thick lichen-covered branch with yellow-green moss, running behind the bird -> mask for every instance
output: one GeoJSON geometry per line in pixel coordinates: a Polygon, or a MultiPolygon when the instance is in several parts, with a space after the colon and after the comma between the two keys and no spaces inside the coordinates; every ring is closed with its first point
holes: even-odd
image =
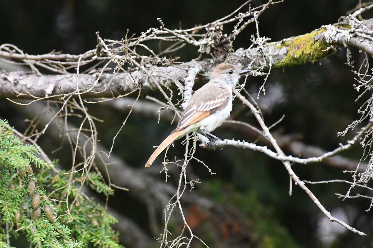
{"type": "MultiPolygon", "coordinates": [[[[340,46],[356,47],[373,55],[373,41],[370,36],[373,33],[373,31],[370,31],[372,27],[373,19],[360,22],[354,17],[348,16],[341,23],[327,25],[305,35],[283,39],[278,42],[269,42],[260,48],[253,46],[247,49],[237,49],[235,52],[231,52],[225,61],[238,64],[242,68],[250,67],[265,70],[271,64],[273,67],[287,67],[307,62],[317,62],[335,53],[340,46]]],[[[102,49],[98,51],[102,52],[102,49]]],[[[96,57],[96,59],[102,61],[98,58],[111,58],[122,65],[120,61],[125,59],[125,55],[115,55],[117,52],[111,51],[111,57],[96,57]]],[[[108,53],[109,51],[104,52],[104,54],[108,53]]],[[[27,55],[7,52],[7,49],[0,50],[0,58],[23,59],[29,63],[30,61],[47,63],[51,59],[60,59],[62,64],[63,61],[69,61],[70,64],[71,61],[76,61],[74,63],[77,64],[79,58],[93,61],[93,57],[90,57],[90,55],[94,54],[95,52],[90,51],[84,55],[27,55]]],[[[141,57],[141,55],[139,56],[141,57]]],[[[40,73],[2,71],[0,73],[0,98],[37,100],[53,97],[56,99],[69,94],[72,94],[72,96],[81,95],[84,98],[118,97],[130,93],[138,87],[141,87],[141,94],[147,94],[150,91],[158,90],[156,84],[161,87],[176,88],[176,82],[185,78],[186,71],[195,63],[201,66],[202,71],[208,72],[222,61],[222,59],[217,58],[166,66],[142,66],[138,64],[139,67],[131,70],[121,70],[122,72],[114,69],[114,73],[108,73],[107,70],[111,69],[106,67],[105,70],[93,69],[88,74],[79,75],[76,73],[42,75],[40,73]]],[[[82,63],[84,63],[83,60],[82,63]]],[[[198,77],[196,82],[203,80],[204,77],[198,77]]]]}

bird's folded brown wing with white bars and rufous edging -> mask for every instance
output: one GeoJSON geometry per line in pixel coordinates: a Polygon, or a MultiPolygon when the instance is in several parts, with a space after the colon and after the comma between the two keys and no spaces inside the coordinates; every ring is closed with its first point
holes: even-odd
{"type": "Polygon", "coordinates": [[[216,84],[205,84],[191,97],[175,131],[184,129],[223,109],[229,103],[229,97],[228,89],[216,86],[216,84]]]}

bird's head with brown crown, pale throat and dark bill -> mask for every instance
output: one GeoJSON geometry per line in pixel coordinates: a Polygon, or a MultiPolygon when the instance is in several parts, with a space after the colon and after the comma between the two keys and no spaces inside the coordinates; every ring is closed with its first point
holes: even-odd
{"type": "Polygon", "coordinates": [[[239,77],[241,77],[242,74],[248,73],[250,71],[251,70],[240,70],[234,65],[222,63],[217,65],[216,68],[213,70],[210,80],[224,80],[234,87],[237,85],[239,77]]]}

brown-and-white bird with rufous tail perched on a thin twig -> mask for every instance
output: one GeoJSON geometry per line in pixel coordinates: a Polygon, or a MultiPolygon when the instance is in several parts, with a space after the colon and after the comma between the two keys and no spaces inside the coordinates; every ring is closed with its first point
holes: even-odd
{"type": "MultiPolygon", "coordinates": [[[[210,142],[219,139],[210,132],[229,117],[232,111],[233,88],[242,74],[252,70],[240,70],[234,65],[222,63],[211,73],[210,81],[192,95],[175,130],[156,148],[145,164],[149,167],[158,155],[173,141],[191,132],[198,132],[210,142]]],[[[220,140],[220,139],[219,139],[220,140]]]]}

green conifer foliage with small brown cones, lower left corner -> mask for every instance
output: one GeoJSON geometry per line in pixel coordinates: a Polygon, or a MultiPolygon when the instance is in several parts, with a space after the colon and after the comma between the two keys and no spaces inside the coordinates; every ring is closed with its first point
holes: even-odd
{"type": "Polygon", "coordinates": [[[121,247],[115,218],[77,189],[76,174],[38,154],[0,120],[0,247],[121,247]]]}

